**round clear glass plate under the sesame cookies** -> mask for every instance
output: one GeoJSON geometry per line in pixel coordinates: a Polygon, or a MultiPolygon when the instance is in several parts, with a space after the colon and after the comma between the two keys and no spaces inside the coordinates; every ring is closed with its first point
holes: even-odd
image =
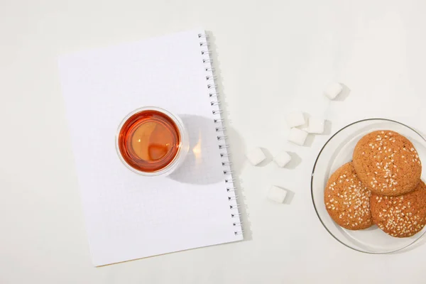
{"type": "MultiPolygon", "coordinates": [[[[311,193],[312,202],[318,218],[325,229],[345,246],[364,253],[392,253],[405,249],[425,234],[426,226],[419,233],[409,238],[394,238],[385,234],[377,226],[368,229],[351,231],[334,223],[324,205],[324,187],[330,175],[344,163],[352,160],[352,153],[359,139],[375,130],[393,130],[410,139],[422,161],[426,161],[426,141],[420,133],[405,124],[389,119],[365,119],[345,126],[325,143],[315,161],[312,170],[311,193]]],[[[422,177],[426,167],[422,168],[422,177]]]]}

